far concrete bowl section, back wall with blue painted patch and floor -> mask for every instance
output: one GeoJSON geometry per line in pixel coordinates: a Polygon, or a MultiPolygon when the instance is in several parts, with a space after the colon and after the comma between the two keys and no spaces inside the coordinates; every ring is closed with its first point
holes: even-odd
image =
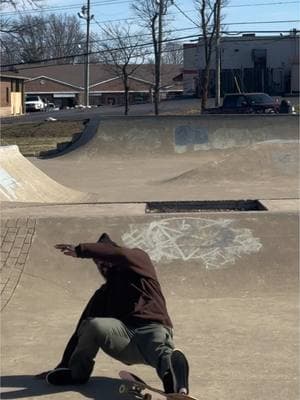
{"type": "Polygon", "coordinates": [[[68,154],[33,162],[108,202],[296,198],[298,124],[297,115],[104,117],[68,154]]]}

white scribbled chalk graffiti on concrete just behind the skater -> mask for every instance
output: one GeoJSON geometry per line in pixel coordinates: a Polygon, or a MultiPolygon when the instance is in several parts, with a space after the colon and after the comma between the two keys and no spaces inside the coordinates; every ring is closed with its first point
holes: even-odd
{"type": "Polygon", "coordinates": [[[122,240],[128,247],[145,250],[155,262],[198,260],[208,270],[220,269],[262,247],[250,229],[235,227],[235,223],[231,219],[167,218],[130,224],[122,240]]]}

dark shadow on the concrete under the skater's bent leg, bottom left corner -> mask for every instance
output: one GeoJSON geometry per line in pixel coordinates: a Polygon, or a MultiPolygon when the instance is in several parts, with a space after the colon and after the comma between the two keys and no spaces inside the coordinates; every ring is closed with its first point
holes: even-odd
{"type": "MultiPolygon", "coordinates": [[[[105,400],[131,400],[132,396],[118,393],[122,383],[119,379],[107,377],[93,377],[85,385],[78,386],[51,386],[45,381],[38,380],[34,375],[11,375],[1,377],[1,399],[29,399],[31,397],[59,395],[60,393],[73,392],[81,394],[83,398],[105,400]]],[[[74,396],[75,397],[75,396],[74,396]]],[[[57,398],[57,397],[56,397],[57,398]]],[[[78,398],[76,396],[76,398],[78,398]]]]}

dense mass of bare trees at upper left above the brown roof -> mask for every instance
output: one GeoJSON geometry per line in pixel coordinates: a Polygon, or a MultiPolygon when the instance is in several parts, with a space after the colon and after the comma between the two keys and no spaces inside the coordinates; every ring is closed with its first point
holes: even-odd
{"type": "Polygon", "coordinates": [[[26,15],[14,27],[13,32],[1,35],[2,65],[52,58],[60,58],[56,63],[72,63],[85,38],[78,19],[66,14],[26,15]]]}

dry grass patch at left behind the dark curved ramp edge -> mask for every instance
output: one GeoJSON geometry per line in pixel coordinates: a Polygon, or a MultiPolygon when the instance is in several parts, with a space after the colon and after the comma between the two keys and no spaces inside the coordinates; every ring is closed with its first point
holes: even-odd
{"type": "Polygon", "coordinates": [[[17,145],[25,156],[38,156],[75,141],[82,133],[86,120],[43,121],[1,126],[1,146],[17,145]]]}

